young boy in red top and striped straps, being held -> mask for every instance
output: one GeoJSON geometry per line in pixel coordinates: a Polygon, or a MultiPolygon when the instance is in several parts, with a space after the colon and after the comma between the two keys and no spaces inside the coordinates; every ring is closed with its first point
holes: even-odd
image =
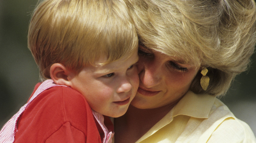
{"type": "Polygon", "coordinates": [[[43,0],[28,47],[45,81],[0,142],[111,142],[113,124],[103,115],[122,116],[139,86],[138,38],[124,2],[43,0]]]}

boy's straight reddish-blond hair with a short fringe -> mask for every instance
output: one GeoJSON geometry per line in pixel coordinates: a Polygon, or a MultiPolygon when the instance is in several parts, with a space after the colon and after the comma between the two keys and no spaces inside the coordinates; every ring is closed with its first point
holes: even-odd
{"type": "Polygon", "coordinates": [[[131,55],[138,36],[122,0],[43,0],[30,21],[28,47],[41,79],[50,79],[53,63],[79,71],[100,56],[110,63],[131,55]]]}

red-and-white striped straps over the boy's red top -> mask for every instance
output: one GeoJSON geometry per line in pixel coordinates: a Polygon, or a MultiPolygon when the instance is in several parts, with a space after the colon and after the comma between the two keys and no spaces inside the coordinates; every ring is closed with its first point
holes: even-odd
{"type": "MultiPolygon", "coordinates": [[[[47,90],[51,87],[55,86],[63,86],[63,85],[57,85],[53,83],[53,80],[49,79],[44,81],[35,91],[35,93],[32,95],[31,99],[26,103],[24,106],[20,108],[20,110],[12,116],[12,118],[3,126],[3,128],[0,131],[0,143],[13,143],[14,137],[17,132],[17,121],[20,118],[21,114],[25,111],[25,109],[29,106],[29,104],[44,90],[47,90]]],[[[93,115],[96,118],[97,122],[101,126],[102,130],[104,131],[104,138],[103,143],[111,143],[112,137],[114,136],[114,133],[106,128],[104,125],[104,117],[102,114],[97,113],[96,111],[93,111],[93,115]]]]}

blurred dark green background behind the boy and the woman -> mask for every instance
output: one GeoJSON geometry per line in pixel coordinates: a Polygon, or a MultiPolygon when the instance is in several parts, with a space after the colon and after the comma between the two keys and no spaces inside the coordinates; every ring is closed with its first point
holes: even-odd
{"type": "MultiPolygon", "coordinates": [[[[39,82],[27,48],[28,24],[37,0],[0,0],[0,129],[23,106],[39,82]]],[[[256,54],[221,100],[256,135],[256,54]]]]}

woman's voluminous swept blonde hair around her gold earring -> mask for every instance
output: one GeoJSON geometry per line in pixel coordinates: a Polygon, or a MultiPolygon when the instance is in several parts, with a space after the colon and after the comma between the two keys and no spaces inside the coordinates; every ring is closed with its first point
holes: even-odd
{"type": "Polygon", "coordinates": [[[198,72],[190,89],[224,95],[245,71],[255,45],[254,0],[126,0],[139,40],[148,48],[208,67],[210,84],[198,72]]]}

